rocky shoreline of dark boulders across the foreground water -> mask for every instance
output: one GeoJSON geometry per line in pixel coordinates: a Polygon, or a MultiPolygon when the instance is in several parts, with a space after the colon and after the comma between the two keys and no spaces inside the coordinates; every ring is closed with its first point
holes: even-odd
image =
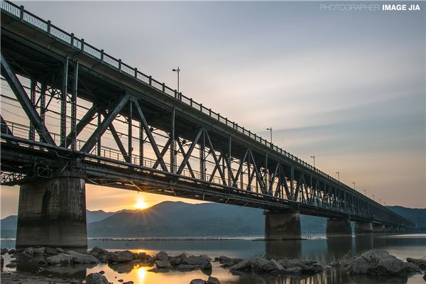
{"type": "MultiPolygon", "coordinates": [[[[353,275],[376,275],[376,276],[407,276],[413,273],[422,273],[426,269],[425,259],[407,258],[402,261],[387,251],[371,250],[360,256],[346,258],[328,266],[322,266],[317,261],[300,259],[273,259],[256,258],[254,261],[242,258],[229,258],[219,256],[192,256],[180,253],[178,256],[169,256],[165,251],[160,251],[154,256],[147,253],[133,253],[131,251],[107,251],[95,246],[87,253],[76,251],[64,251],[60,248],[27,248],[22,250],[1,249],[1,281],[2,283],[86,283],[86,284],[109,284],[103,271],[90,273],[84,281],[81,279],[54,278],[53,275],[38,275],[40,272],[49,272],[52,268],[60,270],[70,266],[91,266],[98,263],[108,265],[119,273],[130,272],[133,266],[140,264],[151,266],[148,271],[153,273],[167,273],[169,271],[195,271],[200,270],[206,275],[212,274],[212,262],[219,262],[222,268],[231,273],[249,272],[269,275],[315,275],[332,268],[341,269],[347,274],[353,275]],[[3,271],[3,255],[8,253],[12,261],[6,265],[7,268],[15,268],[18,263],[33,263],[37,269],[34,273],[13,273],[3,271]]],[[[425,275],[426,277],[426,275],[425,275]]],[[[426,279],[425,279],[426,280],[426,279]]],[[[133,284],[133,281],[119,280],[124,284],[133,284]]],[[[194,279],[190,284],[219,284],[220,280],[209,276],[207,280],[194,279]]]]}

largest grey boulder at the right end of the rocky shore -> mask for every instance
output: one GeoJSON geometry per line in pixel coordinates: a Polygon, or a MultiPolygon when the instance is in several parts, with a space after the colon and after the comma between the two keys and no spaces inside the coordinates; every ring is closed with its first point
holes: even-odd
{"type": "Polygon", "coordinates": [[[384,250],[366,251],[349,261],[346,273],[370,275],[408,275],[420,272],[413,263],[405,263],[384,250]]]}

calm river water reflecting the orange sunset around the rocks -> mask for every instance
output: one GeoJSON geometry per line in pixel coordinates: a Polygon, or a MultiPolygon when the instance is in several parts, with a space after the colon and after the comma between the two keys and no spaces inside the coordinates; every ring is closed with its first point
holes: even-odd
{"type": "MultiPolygon", "coordinates": [[[[1,240],[1,247],[13,248],[13,240],[1,240]]],[[[251,258],[271,256],[273,258],[302,258],[315,260],[326,266],[332,261],[339,261],[346,255],[359,254],[369,249],[386,249],[394,256],[405,260],[407,257],[422,258],[426,256],[426,234],[371,236],[362,238],[337,239],[307,239],[302,241],[257,241],[253,239],[227,240],[173,240],[173,241],[132,241],[89,240],[89,249],[99,246],[109,251],[129,249],[134,252],[158,253],[165,250],[170,256],[186,252],[189,254],[206,254],[212,258],[229,256],[235,258],[251,258]]],[[[6,256],[6,263],[10,261],[6,256]]],[[[337,283],[425,283],[422,275],[413,275],[410,278],[371,278],[362,276],[348,276],[337,270],[328,270],[313,276],[272,276],[255,275],[253,273],[229,273],[221,268],[219,263],[212,263],[212,276],[219,278],[221,283],[244,284],[283,284],[283,283],[310,283],[310,284],[337,284],[337,283]]],[[[38,266],[18,266],[18,271],[35,270],[38,266]]],[[[153,273],[148,270],[152,267],[133,266],[133,264],[97,266],[74,266],[73,268],[51,268],[47,274],[61,275],[62,277],[84,278],[92,272],[105,271],[108,280],[118,283],[133,280],[138,284],[175,283],[187,284],[194,278],[207,279],[201,271],[169,273],[153,273]]],[[[9,269],[9,268],[6,268],[9,269]]],[[[13,270],[13,269],[9,269],[13,270]]]]}

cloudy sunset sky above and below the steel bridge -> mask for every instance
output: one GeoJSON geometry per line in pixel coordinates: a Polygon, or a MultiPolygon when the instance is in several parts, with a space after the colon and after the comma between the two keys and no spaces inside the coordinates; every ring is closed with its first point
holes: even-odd
{"type": "MultiPolygon", "coordinates": [[[[426,207],[421,11],[321,1],[18,1],[26,9],[336,175],[382,204],[426,207]]],[[[372,3],[372,2],[368,2],[372,3]]],[[[379,3],[381,2],[373,2],[379,3]]],[[[172,197],[87,185],[87,208],[172,197]]],[[[18,188],[1,188],[1,217],[18,188]]],[[[195,202],[185,200],[186,202],[195,202]]]]}

